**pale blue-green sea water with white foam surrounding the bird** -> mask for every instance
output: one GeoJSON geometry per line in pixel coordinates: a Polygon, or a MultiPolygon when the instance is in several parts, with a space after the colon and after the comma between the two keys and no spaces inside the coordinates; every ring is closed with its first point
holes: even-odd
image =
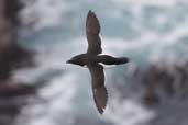
{"type": "Polygon", "coordinates": [[[123,77],[134,66],[144,68],[163,59],[187,60],[186,0],[35,0],[25,4],[20,44],[37,53],[37,67],[19,70],[15,77],[33,81],[52,71],[62,73],[38,91],[47,102],[24,107],[19,125],[24,123],[23,116],[29,117],[27,125],[187,125],[186,106],[177,103],[158,111],[147,109],[139,101],[142,87],[135,92],[123,77]],[[89,10],[100,21],[103,54],[130,58],[126,65],[106,68],[109,103],[103,115],[92,100],[89,71],[66,64],[87,50],[85,22],[89,10]],[[126,98],[122,99],[114,86],[126,88],[126,98]],[[177,117],[183,121],[175,121],[177,117]]]}

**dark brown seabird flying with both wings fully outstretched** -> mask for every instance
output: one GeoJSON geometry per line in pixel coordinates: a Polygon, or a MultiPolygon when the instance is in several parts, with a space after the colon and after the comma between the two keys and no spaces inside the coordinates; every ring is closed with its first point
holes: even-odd
{"type": "Polygon", "coordinates": [[[126,57],[112,57],[109,55],[101,55],[101,39],[99,36],[100,24],[96,14],[92,11],[89,11],[86,19],[86,35],[88,41],[88,49],[85,54],[79,54],[73,57],[70,60],[67,60],[68,64],[74,64],[78,66],[86,66],[91,75],[92,82],[92,94],[93,101],[96,103],[97,110],[100,114],[103,113],[108,94],[104,87],[104,65],[122,65],[129,61],[126,57]]]}

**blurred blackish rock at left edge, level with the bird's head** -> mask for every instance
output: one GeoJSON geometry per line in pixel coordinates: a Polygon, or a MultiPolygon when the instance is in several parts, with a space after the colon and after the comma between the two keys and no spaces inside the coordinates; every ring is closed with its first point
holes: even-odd
{"type": "MultiPolygon", "coordinates": [[[[11,76],[11,71],[26,66],[33,66],[33,54],[13,44],[0,53],[0,80],[5,80],[11,76]]],[[[0,82],[1,83],[1,82],[0,82]]]]}

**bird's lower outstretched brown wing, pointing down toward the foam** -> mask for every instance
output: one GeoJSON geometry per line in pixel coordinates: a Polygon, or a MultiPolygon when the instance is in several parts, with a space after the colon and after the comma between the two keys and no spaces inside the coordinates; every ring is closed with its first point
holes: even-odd
{"type": "Polygon", "coordinates": [[[102,114],[108,100],[107,89],[104,87],[103,67],[96,64],[88,66],[88,68],[91,73],[93,100],[99,113],[102,114]]]}

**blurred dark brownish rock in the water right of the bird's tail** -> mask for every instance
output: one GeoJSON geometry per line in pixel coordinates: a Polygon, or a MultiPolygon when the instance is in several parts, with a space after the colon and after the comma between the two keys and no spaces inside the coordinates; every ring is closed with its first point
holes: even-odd
{"type": "Polygon", "coordinates": [[[162,98],[185,99],[188,94],[188,63],[179,64],[153,64],[148,65],[145,70],[139,70],[134,77],[137,82],[143,83],[145,94],[143,100],[145,104],[159,103],[162,98]]]}

